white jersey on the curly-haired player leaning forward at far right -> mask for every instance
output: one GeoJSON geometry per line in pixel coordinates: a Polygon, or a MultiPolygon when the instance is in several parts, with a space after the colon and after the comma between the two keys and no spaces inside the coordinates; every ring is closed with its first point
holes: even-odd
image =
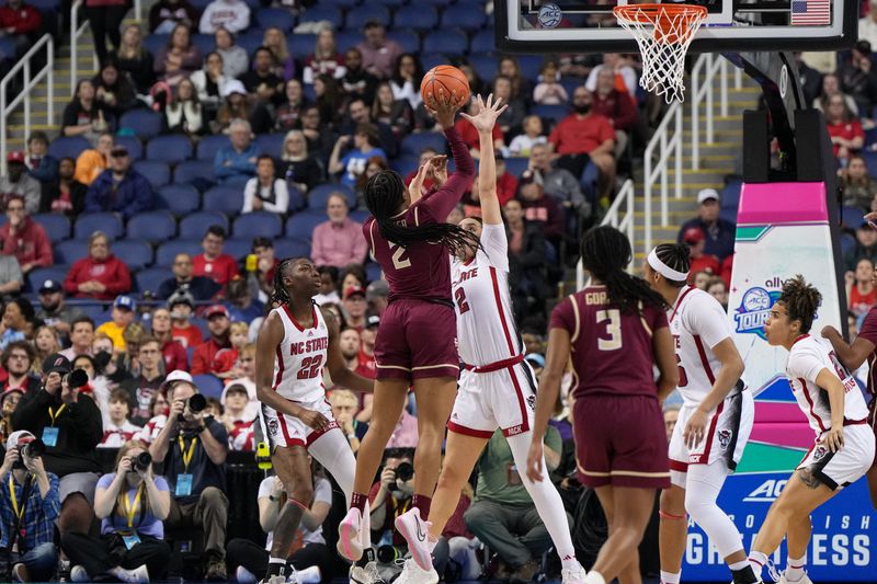
{"type": "Polygon", "coordinates": [[[809,334],[801,335],[791,345],[786,363],[786,375],[791,383],[791,391],[795,393],[798,406],[807,416],[817,437],[831,428],[829,394],[816,383],[816,378],[822,369],[828,369],[836,375],[843,383],[844,423],[861,422],[868,417],[868,408],[865,405],[865,398],[862,396],[856,380],[841,365],[831,345],[809,334]]]}

